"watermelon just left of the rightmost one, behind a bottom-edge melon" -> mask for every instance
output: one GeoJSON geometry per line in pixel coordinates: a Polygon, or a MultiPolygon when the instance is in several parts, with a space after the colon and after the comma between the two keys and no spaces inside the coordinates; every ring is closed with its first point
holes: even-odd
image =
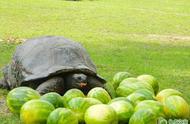
{"type": "Polygon", "coordinates": [[[144,100],[136,105],[135,112],[142,109],[151,109],[156,115],[164,117],[164,107],[158,101],[144,100]]]}

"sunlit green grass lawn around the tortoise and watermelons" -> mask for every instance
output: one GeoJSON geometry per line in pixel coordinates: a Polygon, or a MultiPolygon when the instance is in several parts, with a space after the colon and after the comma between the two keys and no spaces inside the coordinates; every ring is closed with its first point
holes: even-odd
{"type": "MultiPolygon", "coordinates": [[[[118,71],[154,75],[190,103],[189,0],[1,0],[0,68],[17,43],[42,35],[81,42],[108,82],[118,71]]],[[[0,73],[0,77],[2,73],[0,73]]],[[[18,124],[0,90],[1,124],[18,124]]]]}

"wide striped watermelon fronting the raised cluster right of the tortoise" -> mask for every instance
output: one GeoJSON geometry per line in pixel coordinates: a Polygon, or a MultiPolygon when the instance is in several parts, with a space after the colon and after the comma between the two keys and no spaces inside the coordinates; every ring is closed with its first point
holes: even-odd
{"type": "Polygon", "coordinates": [[[139,89],[148,89],[151,92],[154,92],[152,86],[144,82],[135,82],[135,83],[121,83],[116,90],[117,96],[127,97],[129,94],[135,92],[139,89]]]}

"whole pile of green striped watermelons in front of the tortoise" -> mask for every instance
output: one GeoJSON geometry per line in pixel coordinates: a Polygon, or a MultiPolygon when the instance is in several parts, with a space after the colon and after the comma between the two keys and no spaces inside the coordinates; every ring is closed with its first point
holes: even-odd
{"type": "Polygon", "coordinates": [[[23,124],[157,124],[164,119],[189,119],[190,107],[175,89],[159,92],[152,75],[134,77],[118,72],[111,83],[115,98],[101,87],[84,95],[70,89],[63,96],[40,94],[29,87],[18,87],[7,95],[7,106],[20,114],[23,124]]]}

